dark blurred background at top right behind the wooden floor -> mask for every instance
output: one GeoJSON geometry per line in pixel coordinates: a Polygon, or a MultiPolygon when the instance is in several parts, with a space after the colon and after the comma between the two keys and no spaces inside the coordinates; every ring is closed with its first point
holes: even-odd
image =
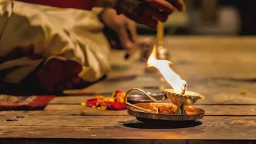
{"type": "MultiPolygon", "coordinates": [[[[185,0],[187,12],[175,11],[165,23],[166,35],[255,35],[256,0],[185,0]]],[[[137,25],[139,35],[155,29],[137,25]]]]}

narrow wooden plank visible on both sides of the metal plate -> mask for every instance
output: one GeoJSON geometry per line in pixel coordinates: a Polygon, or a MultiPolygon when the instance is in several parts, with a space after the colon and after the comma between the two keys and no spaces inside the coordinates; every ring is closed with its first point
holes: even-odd
{"type": "MultiPolygon", "coordinates": [[[[195,105],[205,115],[256,116],[255,105],[195,105]]],[[[0,115],[128,115],[127,110],[103,111],[81,105],[48,105],[44,111],[0,111],[0,115]]]]}

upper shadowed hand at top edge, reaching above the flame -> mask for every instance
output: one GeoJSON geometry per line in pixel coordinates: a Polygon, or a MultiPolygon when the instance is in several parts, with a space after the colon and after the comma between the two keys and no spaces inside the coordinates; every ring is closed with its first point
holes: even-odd
{"type": "Polygon", "coordinates": [[[166,21],[174,9],[185,11],[183,0],[96,0],[95,7],[111,7],[133,21],[156,27],[157,21],[166,21]]]}

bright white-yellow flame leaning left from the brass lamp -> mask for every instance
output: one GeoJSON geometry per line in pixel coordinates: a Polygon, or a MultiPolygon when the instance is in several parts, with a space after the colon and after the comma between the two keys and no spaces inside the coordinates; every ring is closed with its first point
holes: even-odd
{"type": "Polygon", "coordinates": [[[157,47],[154,45],[151,54],[149,55],[149,59],[147,60],[147,67],[155,67],[159,69],[167,83],[173,87],[175,93],[184,94],[186,91],[186,81],[181,79],[179,75],[177,75],[170,67],[172,64],[171,61],[167,60],[159,60],[156,58],[157,55],[157,47]]]}

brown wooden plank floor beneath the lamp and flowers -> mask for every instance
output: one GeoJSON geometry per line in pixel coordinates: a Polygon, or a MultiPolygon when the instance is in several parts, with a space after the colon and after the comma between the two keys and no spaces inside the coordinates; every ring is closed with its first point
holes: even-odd
{"type": "Polygon", "coordinates": [[[205,95],[195,105],[206,111],[202,123],[148,125],[125,110],[81,106],[116,89],[169,87],[159,73],[145,73],[138,57],[123,61],[123,52],[114,51],[109,78],[80,95],[66,91],[69,95],[56,97],[44,111],[1,111],[0,143],[255,143],[256,37],[168,37],[167,45],[173,69],[188,89],[205,95]],[[6,121],[17,115],[24,118],[6,121]]]}

